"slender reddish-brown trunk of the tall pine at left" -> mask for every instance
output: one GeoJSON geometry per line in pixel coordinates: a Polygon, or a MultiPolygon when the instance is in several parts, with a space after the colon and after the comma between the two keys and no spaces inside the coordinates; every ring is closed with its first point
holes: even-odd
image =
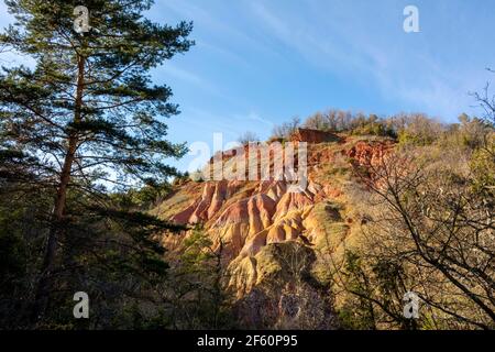
{"type": "MultiPolygon", "coordinates": [[[[77,125],[81,121],[82,94],[85,88],[85,65],[86,58],[78,54],[77,56],[78,76],[77,88],[75,97],[74,123],[77,125]]],[[[51,300],[51,292],[53,289],[53,279],[56,274],[56,254],[58,242],[63,237],[65,224],[65,208],[67,200],[67,189],[70,183],[72,168],[78,147],[77,131],[73,131],[67,136],[67,152],[64,160],[64,165],[61,170],[59,183],[57,187],[57,195],[52,213],[51,228],[48,233],[48,241],[43,260],[41,277],[36,287],[36,296],[33,309],[32,320],[34,323],[43,321],[46,309],[51,300]]]]}

